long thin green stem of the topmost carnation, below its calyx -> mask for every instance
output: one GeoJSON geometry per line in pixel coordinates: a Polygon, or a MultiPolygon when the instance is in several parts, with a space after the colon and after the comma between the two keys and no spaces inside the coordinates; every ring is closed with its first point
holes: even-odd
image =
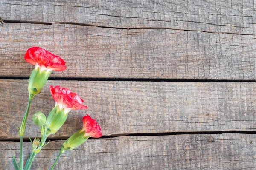
{"type": "Polygon", "coordinates": [[[33,95],[29,95],[29,103],[25,112],[25,115],[23,117],[23,121],[21,123],[19,133],[20,133],[20,170],[23,170],[23,136],[25,135],[25,129],[26,129],[26,121],[28,119],[29,115],[29,108],[33,99],[33,95]]]}

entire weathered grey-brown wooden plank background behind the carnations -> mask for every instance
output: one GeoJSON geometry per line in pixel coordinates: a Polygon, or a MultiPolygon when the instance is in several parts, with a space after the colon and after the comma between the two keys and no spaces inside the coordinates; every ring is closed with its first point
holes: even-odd
{"type": "Polygon", "coordinates": [[[67,122],[36,156],[49,170],[90,114],[100,139],[65,152],[56,170],[255,170],[255,0],[1,0],[0,170],[19,162],[17,127],[39,46],[61,56],[32,113],[54,107],[49,85],[78,93],[89,109],[67,122]],[[52,160],[53,159],[53,160],[52,160]]]}

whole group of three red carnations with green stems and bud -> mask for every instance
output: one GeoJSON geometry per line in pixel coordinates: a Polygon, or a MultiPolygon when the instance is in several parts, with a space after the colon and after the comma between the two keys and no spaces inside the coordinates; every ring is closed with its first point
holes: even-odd
{"type": "MultiPolygon", "coordinates": [[[[25,54],[26,62],[35,65],[35,69],[32,71],[29,78],[29,102],[24,115],[23,121],[19,128],[20,134],[20,166],[17,164],[15,156],[13,157],[13,165],[15,170],[23,170],[23,137],[26,130],[26,122],[29,114],[29,108],[32,99],[41,92],[44,87],[49,74],[51,71],[64,71],[66,66],[61,57],[56,56],[49,51],[46,51],[39,47],[29,48],[25,54]]],[[[87,106],[82,105],[84,102],[81,97],[76,93],[72,93],[67,88],[61,88],[60,86],[50,86],[50,91],[52,98],[55,100],[56,105],[50,111],[49,115],[46,117],[44,113],[37,112],[33,116],[33,122],[35,125],[40,127],[41,139],[35,138],[32,143],[32,153],[26,161],[24,170],[29,170],[37,153],[41,151],[49,142],[45,143],[47,137],[55,134],[64,122],[67,120],[68,113],[71,110],[87,109],[87,106]]],[[[102,136],[102,130],[97,124],[96,120],[91,119],[89,115],[83,117],[83,127],[81,130],[74,133],[70,138],[68,138],[62,145],[60,153],[52,165],[51,170],[55,167],[61,154],[66,150],[72,150],[81,144],[83,144],[89,137],[99,138],[102,136]]]]}

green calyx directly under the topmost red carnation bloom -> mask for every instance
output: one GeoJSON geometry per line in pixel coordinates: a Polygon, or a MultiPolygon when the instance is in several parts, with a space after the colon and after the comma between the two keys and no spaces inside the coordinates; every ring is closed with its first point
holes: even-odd
{"type": "Polygon", "coordinates": [[[51,71],[47,72],[47,70],[40,71],[39,67],[36,67],[29,78],[29,94],[37,95],[41,92],[42,88],[44,87],[45,83],[48,80],[49,74],[51,71]]]}

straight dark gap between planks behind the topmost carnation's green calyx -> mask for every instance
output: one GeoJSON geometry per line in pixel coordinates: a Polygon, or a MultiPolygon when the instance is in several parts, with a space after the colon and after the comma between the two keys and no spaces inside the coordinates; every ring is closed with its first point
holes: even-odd
{"type": "MultiPolygon", "coordinates": [[[[24,80],[29,79],[29,77],[1,77],[0,79],[14,79],[14,80],[24,80]]],[[[48,80],[63,80],[63,81],[99,81],[99,82],[256,82],[255,79],[252,80],[227,80],[227,79],[142,79],[142,78],[79,78],[79,77],[49,77],[48,80]]]]}

